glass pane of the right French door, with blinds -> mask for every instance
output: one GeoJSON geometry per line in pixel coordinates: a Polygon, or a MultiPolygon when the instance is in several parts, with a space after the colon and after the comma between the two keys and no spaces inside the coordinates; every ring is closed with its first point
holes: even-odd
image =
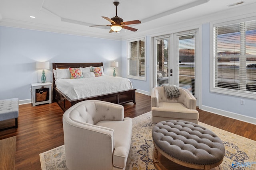
{"type": "Polygon", "coordinates": [[[195,89],[195,34],[178,37],[179,87],[194,95],[195,89]]]}

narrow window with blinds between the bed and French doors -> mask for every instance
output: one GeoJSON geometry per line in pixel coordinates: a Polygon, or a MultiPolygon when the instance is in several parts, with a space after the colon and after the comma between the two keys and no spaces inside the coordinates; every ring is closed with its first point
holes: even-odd
{"type": "Polygon", "coordinates": [[[145,38],[128,42],[127,77],[146,80],[145,38]]]}

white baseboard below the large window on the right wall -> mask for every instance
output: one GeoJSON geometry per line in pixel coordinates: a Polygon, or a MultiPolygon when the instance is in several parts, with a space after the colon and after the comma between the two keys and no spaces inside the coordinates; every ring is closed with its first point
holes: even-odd
{"type": "Polygon", "coordinates": [[[216,108],[208,107],[208,106],[202,106],[201,109],[204,110],[204,111],[208,111],[210,113],[214,113],[214,114],[217,114],[217,115],[222,115],[222,116],[225,116],[225,117],[229,117],[229,118],[232,118],[232,119],[236,119],[236,120],[240,120],[240,121],[244,121],[244,122],[256,125],[256,123],[255,123],[256,118],[255,117],[240,115],[238,113],[233,113],[233,112],[230,112],[230,111],[216,109],[216,108]]]}

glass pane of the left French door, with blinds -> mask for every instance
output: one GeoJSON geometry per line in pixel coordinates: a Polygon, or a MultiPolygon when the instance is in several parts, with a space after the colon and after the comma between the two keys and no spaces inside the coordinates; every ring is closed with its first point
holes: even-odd
{"type": "Polygon", "coordinates": [[[168,75],[168,57],[169,57],[169,38],[158,39],[156,41],[156,53],[157,53],[157,86],[162,84],[169,84],[168,75]]]}

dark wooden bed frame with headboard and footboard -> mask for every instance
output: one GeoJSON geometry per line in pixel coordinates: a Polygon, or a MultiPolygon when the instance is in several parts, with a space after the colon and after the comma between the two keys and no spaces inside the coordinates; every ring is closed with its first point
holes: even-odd
{"type": "MultiPolygon", "coordinates": [[[[55,70],[58,69],[64,69],[64,68],[87,68],[87,67],[100,67],[102,66],[103,68],[103,63],[52,63],[52,68],[55,70]]],[[[57,82],[59,81],[55,79],[55,75],[53,73],[53,96],[54,96],[54,101],[56,101],[58,103],[58,105],[64,110],[66,111],[69,107],[73,106],[74,104],[84,101],[84,100],[103,100],[106,102],[111,102],[111,103],[115,103],[115,104],[125,104],[128,102],[133,102],[134,104],[136,104],[135,101],[135,91],[136,89],[134,88],[130,88],[127,90],[118,90],[118,91],[114,91],[114,92],[108,92],[106,94],[95,94],[94,96],[89,96],[89,97],[82,97],[80,98],[79,95],[76,97],[70,97],[69,94],[67,92],[63,92],[61,91],[58,87],[60,87],[59,85],[56,86],[56,84],[58,84],[57,82]]],[[[106,78],[105,76],[102,76],[102,78],[106,78]]],[[[109,78],[114,78],[114,77],[110,77],[109,78]]],[[[83,79],[83,78],[81,78],[83,79]]],[[[74,79],[73,79],[74,80],[74,79]]],[[[88,79],[89,80],[89,79],[88,79]]],[[[68,87],[68,83],[69,81],[72,80],[64,80],[66,81],[66,87],[68,87]]],[[[104,81],[104,79],[102,80],[104,81]]],[[[94,84],[92,84],[92,86],[94,86],[94,84]]],[[[84,90],[86,91],[86,90],[84,90]]]]}

